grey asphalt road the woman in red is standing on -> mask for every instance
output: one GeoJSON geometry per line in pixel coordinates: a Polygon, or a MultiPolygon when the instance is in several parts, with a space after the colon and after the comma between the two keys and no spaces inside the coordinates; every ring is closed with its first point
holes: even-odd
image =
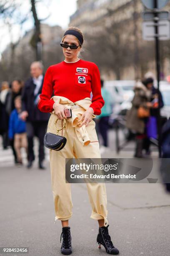
{"type": "MultiPolygon", "coordinates": [[[[116,154],[110,151],[107,156],[116,154]]],[[[128,152],[122,152],[123,156],[127,157],[128,152]]],[[[59,220],[54,223],[48,155],[45,165],[43,171],[37,169],[36,161],[30,170],[13,166],[10,149],[0,149],[1,247],[29,247],[30,256],[61,255],[62,228],[59,220]]],[[[105,248],[98,249],[96,243],[98,223],[90,218],[86,185],[71,186],[72,255],[107,255],[105,248]]],[[[169,256],[170,195],[163,185],[110,183],[106,189],[109,233],[120,255],[169,256]]]]}

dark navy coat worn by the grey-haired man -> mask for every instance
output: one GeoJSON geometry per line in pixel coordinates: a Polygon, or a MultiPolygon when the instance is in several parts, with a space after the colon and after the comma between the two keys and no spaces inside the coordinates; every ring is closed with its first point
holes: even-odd
{"type": "MultiPolygon", "coordinates": [[[[41,94],[42,92],[42,85],[44,82],[44,76],[42,79],[41,87],[37,93],[41,94]]],[[[42,113],[38,108],[37,104],[35,104],[35,99],[37,95],[34,95],[36,85],[33,83],[32,77],[30,77],[26,82],[23,88],[22,93],[22,111],[28,112],[27,121],[48,121],[50,118],[50,113],[42,113]]]]}

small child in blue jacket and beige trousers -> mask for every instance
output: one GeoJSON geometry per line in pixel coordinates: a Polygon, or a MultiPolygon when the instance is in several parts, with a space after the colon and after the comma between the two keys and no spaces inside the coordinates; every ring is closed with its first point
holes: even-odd
{"type": "Polygon", "coordinates": [[[9,138],[14,139],[14,148],[17,153],[18,164],[23,164],[21,148],[25,148],[27,154],[28,143],[25,121],[20,119],[21,96],[15,97],[14,104],[15,109],[12,111],[9,121],[9,138]]]}

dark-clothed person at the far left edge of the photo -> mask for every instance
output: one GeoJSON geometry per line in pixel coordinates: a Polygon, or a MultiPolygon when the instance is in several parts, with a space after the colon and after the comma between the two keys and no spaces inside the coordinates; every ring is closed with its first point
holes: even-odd
{"type": "Polygon", "coordinates": [[[9,91],[9,83],[7,81],[2,82],[0,88],[0,135],[2,136],[3,149],[7,149],[7,146],[9,145],[7,134],[9,115],[6,110],[7,95],[9,91]]]}

